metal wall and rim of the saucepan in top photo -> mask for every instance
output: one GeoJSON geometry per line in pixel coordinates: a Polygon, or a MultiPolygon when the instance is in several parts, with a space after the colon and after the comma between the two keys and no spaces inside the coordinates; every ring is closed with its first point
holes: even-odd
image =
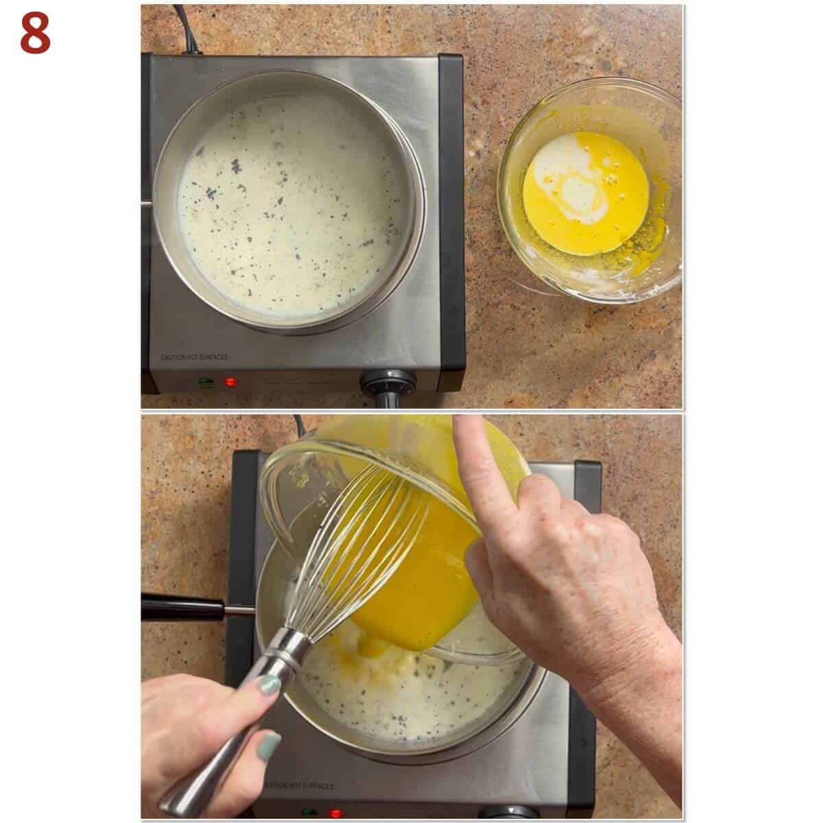
{"type": "Polygon", "coordinates": [[[194,294],[212,309],[252,328],[281,334],[312,334],[351,323],[382,303],[398,286],[412,265],[425,221],[425,188],[412,146],[388,114],[359,92],[342,82],[311,72],[278,69],[255,72],[228,81],[209,92],[179,119],[157,160],[153,188],[155,226],[160,243],[174,270],[194,294]],[[370,129],[383,137],[388,156],[398,171],[402,198],[406,203],[405,226],[400,226],[398,243],[384,277],[354,305],[322,318],[299,323],[278,323],[276,319],[229,300],[212,285],[193,263],[180,228],[178,189],[186,162],[204,133],[221,117],[252,100],[275,95],[314,95],[318,105],[333,97],[346,105],[370,129]]]}

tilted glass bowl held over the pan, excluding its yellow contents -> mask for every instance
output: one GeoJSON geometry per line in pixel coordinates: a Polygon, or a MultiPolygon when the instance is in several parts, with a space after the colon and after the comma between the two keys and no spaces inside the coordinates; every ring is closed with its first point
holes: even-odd
{"type": "MultiPolygon", "coordinates": [[[[512,497],[530,471],[514,444],[486,422],[492,453],[512,497]]],[[[351,477],[371,463],[414,483],[462,518],[480,535],[458,477],[451,418],[445,415],[335,416],[295,443],[272,453],[260,477],[260,499],[279,546],[302,564],[309,540],[351,477]],[[294,523],[304,523],[296,534],[294,523]]],[[[468,544],[467,544],[468,545],[468,544]]],[[[428,653],[453,663],[500,665],[523,659],[509,639],[486,618],[480,603],[428,653]]]]}

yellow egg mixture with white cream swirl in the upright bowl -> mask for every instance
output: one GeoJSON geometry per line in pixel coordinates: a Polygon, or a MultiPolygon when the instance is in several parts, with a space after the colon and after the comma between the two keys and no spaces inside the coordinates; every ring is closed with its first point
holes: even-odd
{"type": "Polygon", "coordinates": [[[523,208],[540,237],[580,256],[617,249],[649,209],[649,179],[614,137],[574,132],[537,151],[523,180],[523,208]]]}

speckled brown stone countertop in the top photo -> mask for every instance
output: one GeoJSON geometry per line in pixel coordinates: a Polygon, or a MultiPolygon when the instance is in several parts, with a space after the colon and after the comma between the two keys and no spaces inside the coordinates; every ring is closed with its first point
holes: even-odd
{"type": "MultiPolygon", "coordinates": [[[[618,74],[681,96],[679,6],[187,6],[212,54],[465,56],[467,373],[463,391],[407,406],[679,408],[681,290],[589,305],[528,276],[497,215],[495,175],[518,120],[548,92],[618,74]]],[[[179,53],[171,6],[142,7],[142,49],[179,53]]],[[[346,408],[351,393],[179,393],[144,407],[346,408]]]]}

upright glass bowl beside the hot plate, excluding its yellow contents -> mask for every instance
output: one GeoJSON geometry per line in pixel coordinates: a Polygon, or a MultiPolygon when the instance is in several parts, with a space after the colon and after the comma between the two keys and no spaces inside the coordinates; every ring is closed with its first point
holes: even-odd
{"type": "Polygon", "coordinates": [[[531,291],[557,291],[593,303],[637,303],[682,278],[681,102],[657,86],[597,77],[543,98],[518,123],[500,160],[497,206],[509,243],[535,277],[531,291]],[[620,248],[580,257],[547,244],[523,209],[523,179],[542,146],[571,132],[615,137],[635,152],[649,178],[649,212],[620,248]],[[641,242],[642,240],[642,242],[641,242]]]}

